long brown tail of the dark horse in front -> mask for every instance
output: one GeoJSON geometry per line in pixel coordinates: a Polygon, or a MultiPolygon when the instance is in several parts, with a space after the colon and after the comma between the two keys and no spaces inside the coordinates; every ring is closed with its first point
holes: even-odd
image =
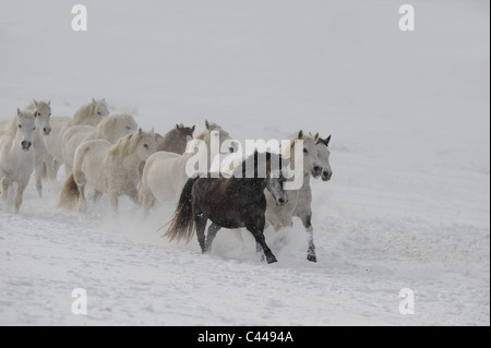
{"type": "Polygon", "coordinates": [[[193,216],[193,206],[192,206],[192,190],[194,182],[196,182],[196,178],[189,179],[182,189],[181,197],[179,199],[179,204],[173,214],[171,225],[164,237],[169,238],[170,241],[177,239],[180,241],[181,239],[185,239],[187,243],[191,240],[191,237],[194,235],[194,216],[193,216]]]}

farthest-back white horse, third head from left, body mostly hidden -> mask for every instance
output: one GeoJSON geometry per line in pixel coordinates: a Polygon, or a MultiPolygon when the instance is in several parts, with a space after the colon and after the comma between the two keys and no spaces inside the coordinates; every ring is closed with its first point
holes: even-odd
{"type": "Polygon", "coordinates": [[[80,107],[71,119],[68,117],[51,118],[51,135],[45,137],[45,164],[50,179],[56,179],[58,169],[63,164],[63,147],[61,144],[63,133],[77,124],[95,127],[108,115],[106,100],[92,98],[92,101],[80,107]]]}

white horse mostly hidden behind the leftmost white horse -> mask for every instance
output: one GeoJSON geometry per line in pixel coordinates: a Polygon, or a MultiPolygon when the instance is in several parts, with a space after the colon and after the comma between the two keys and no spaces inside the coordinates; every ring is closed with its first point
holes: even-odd
{"type": "MultiPolygon", "coordinates": [[[[51,117],[51,103],[50,101],[37,101],[33,99],[24,110],[34,112],[36,118],[36,131],[34,132],[33,149],[36,154],[35,176],[36,176],[36,189],[38,195],[43,196],[43,169],[45,157],[45,141],[43,135],[49,135],[51,133],[50,117],[51,117]]],[[[0,135],[2,129],[8,121],[0,122],[0,135]]]]}

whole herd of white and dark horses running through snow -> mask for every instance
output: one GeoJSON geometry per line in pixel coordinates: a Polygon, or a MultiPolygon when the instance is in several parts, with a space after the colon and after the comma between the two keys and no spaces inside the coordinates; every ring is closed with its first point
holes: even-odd
{"type": "MultiPolygon", "coordinates": [[[[2,199],[14,195],[14,212],[19,213],[23,193],[33,177],[38,195],[43,196],[43,179],[56,180],[64,165],[59,208],[87,209],[85,188],[92,188],[89,197],[96,201],[107,194],[113,214],[118,214],[118,200],[129,196],[142,205],[143,215],[157,204],[176,209],[165,236],[170,240],[189,241],[196,231],[203,253],[211,252],[213,240],[221,228],[247,228],[256,241],[256,250],[267,263],[276,262],[266,245],[264,229],[275,230],[291,226],[299,217],[308,236],[307,259],[316,262],[313,241],[311,178],[328,181],[331,135],[323,139],[299,131],[285,152],[258,151],[240,160],[237,175],[211,176],[213,159],[220,155],[225,144],[229,152],[237,151],[238,142],[216,123],[205,121],[205,129],[193,139],[195,127],[176,124],[166,135],[139,128],[133,116],[109,116],[105,99],[92,99],[76,110],[73,117],[51,117],[50,101],[33,100],[15,117],[0,121],[0,180],[2,199]],[[187,165],[195,156],[192,142],[206,146],[206,172],[190,178],[187,165]],[[213,146],[213,142],[219,146],[213,146]],[[303,146],[302,160],[296,159],[294,147],[303,146]],[[291,178],[284,175],[287,166],[303,166],[303,184],[298,190],[286,190],[291,178]],[[279,164],[275,170],[273,164],[279,164]],[[265,165],[265,175],[260,166],[265,165]],[[252,177],[246,175],[253,168],[252,177]],[[249,170],[249,169],[248,169],[249,170]],[[16,191],[11,188],[16,183],[16,191]],[[205,229],[208,220],[207,235],[205,229]]],[[[282,144],[284,146],[284,144],[282,144]]]]}

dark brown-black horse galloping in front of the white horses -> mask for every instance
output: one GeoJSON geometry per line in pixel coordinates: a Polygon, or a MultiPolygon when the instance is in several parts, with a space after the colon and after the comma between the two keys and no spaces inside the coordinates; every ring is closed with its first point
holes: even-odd
{"type": "MultiPolygon", "coordinates": [[[[284,190],[286,181],[278,170],[273,175],[273,156],[277,156],[276,163],[280,164],[280,155],[271,153],[250,156],[242,163],[242,176],[236,178],[193,178],[185,183],[178,207],[172,217],[169,229],[164,235],[170,241],[182,238],[189,242],[194,230],[203,253],[209,253],[213,240],[221,228],[236,229],[246,227],[254,237],[256,251],[263,251],[267,263],[277,262],[275,255],[267,247],[264,238],[266,197],[264,191],[275,197],[278,206],[288,203],[287,192],[284,190]],[[261,159],[266,160],[266,175],[259,175],[261,159]],[[247,169],[254,166],[253,178],[248,178],[247,169]],[[212,221],[205,237],[207,220],[212,221]]],[[[282,168],[282,164],[279,165],[282,168]]],[[[278,169],[280,169],[278,168],[278,169]]]]}

